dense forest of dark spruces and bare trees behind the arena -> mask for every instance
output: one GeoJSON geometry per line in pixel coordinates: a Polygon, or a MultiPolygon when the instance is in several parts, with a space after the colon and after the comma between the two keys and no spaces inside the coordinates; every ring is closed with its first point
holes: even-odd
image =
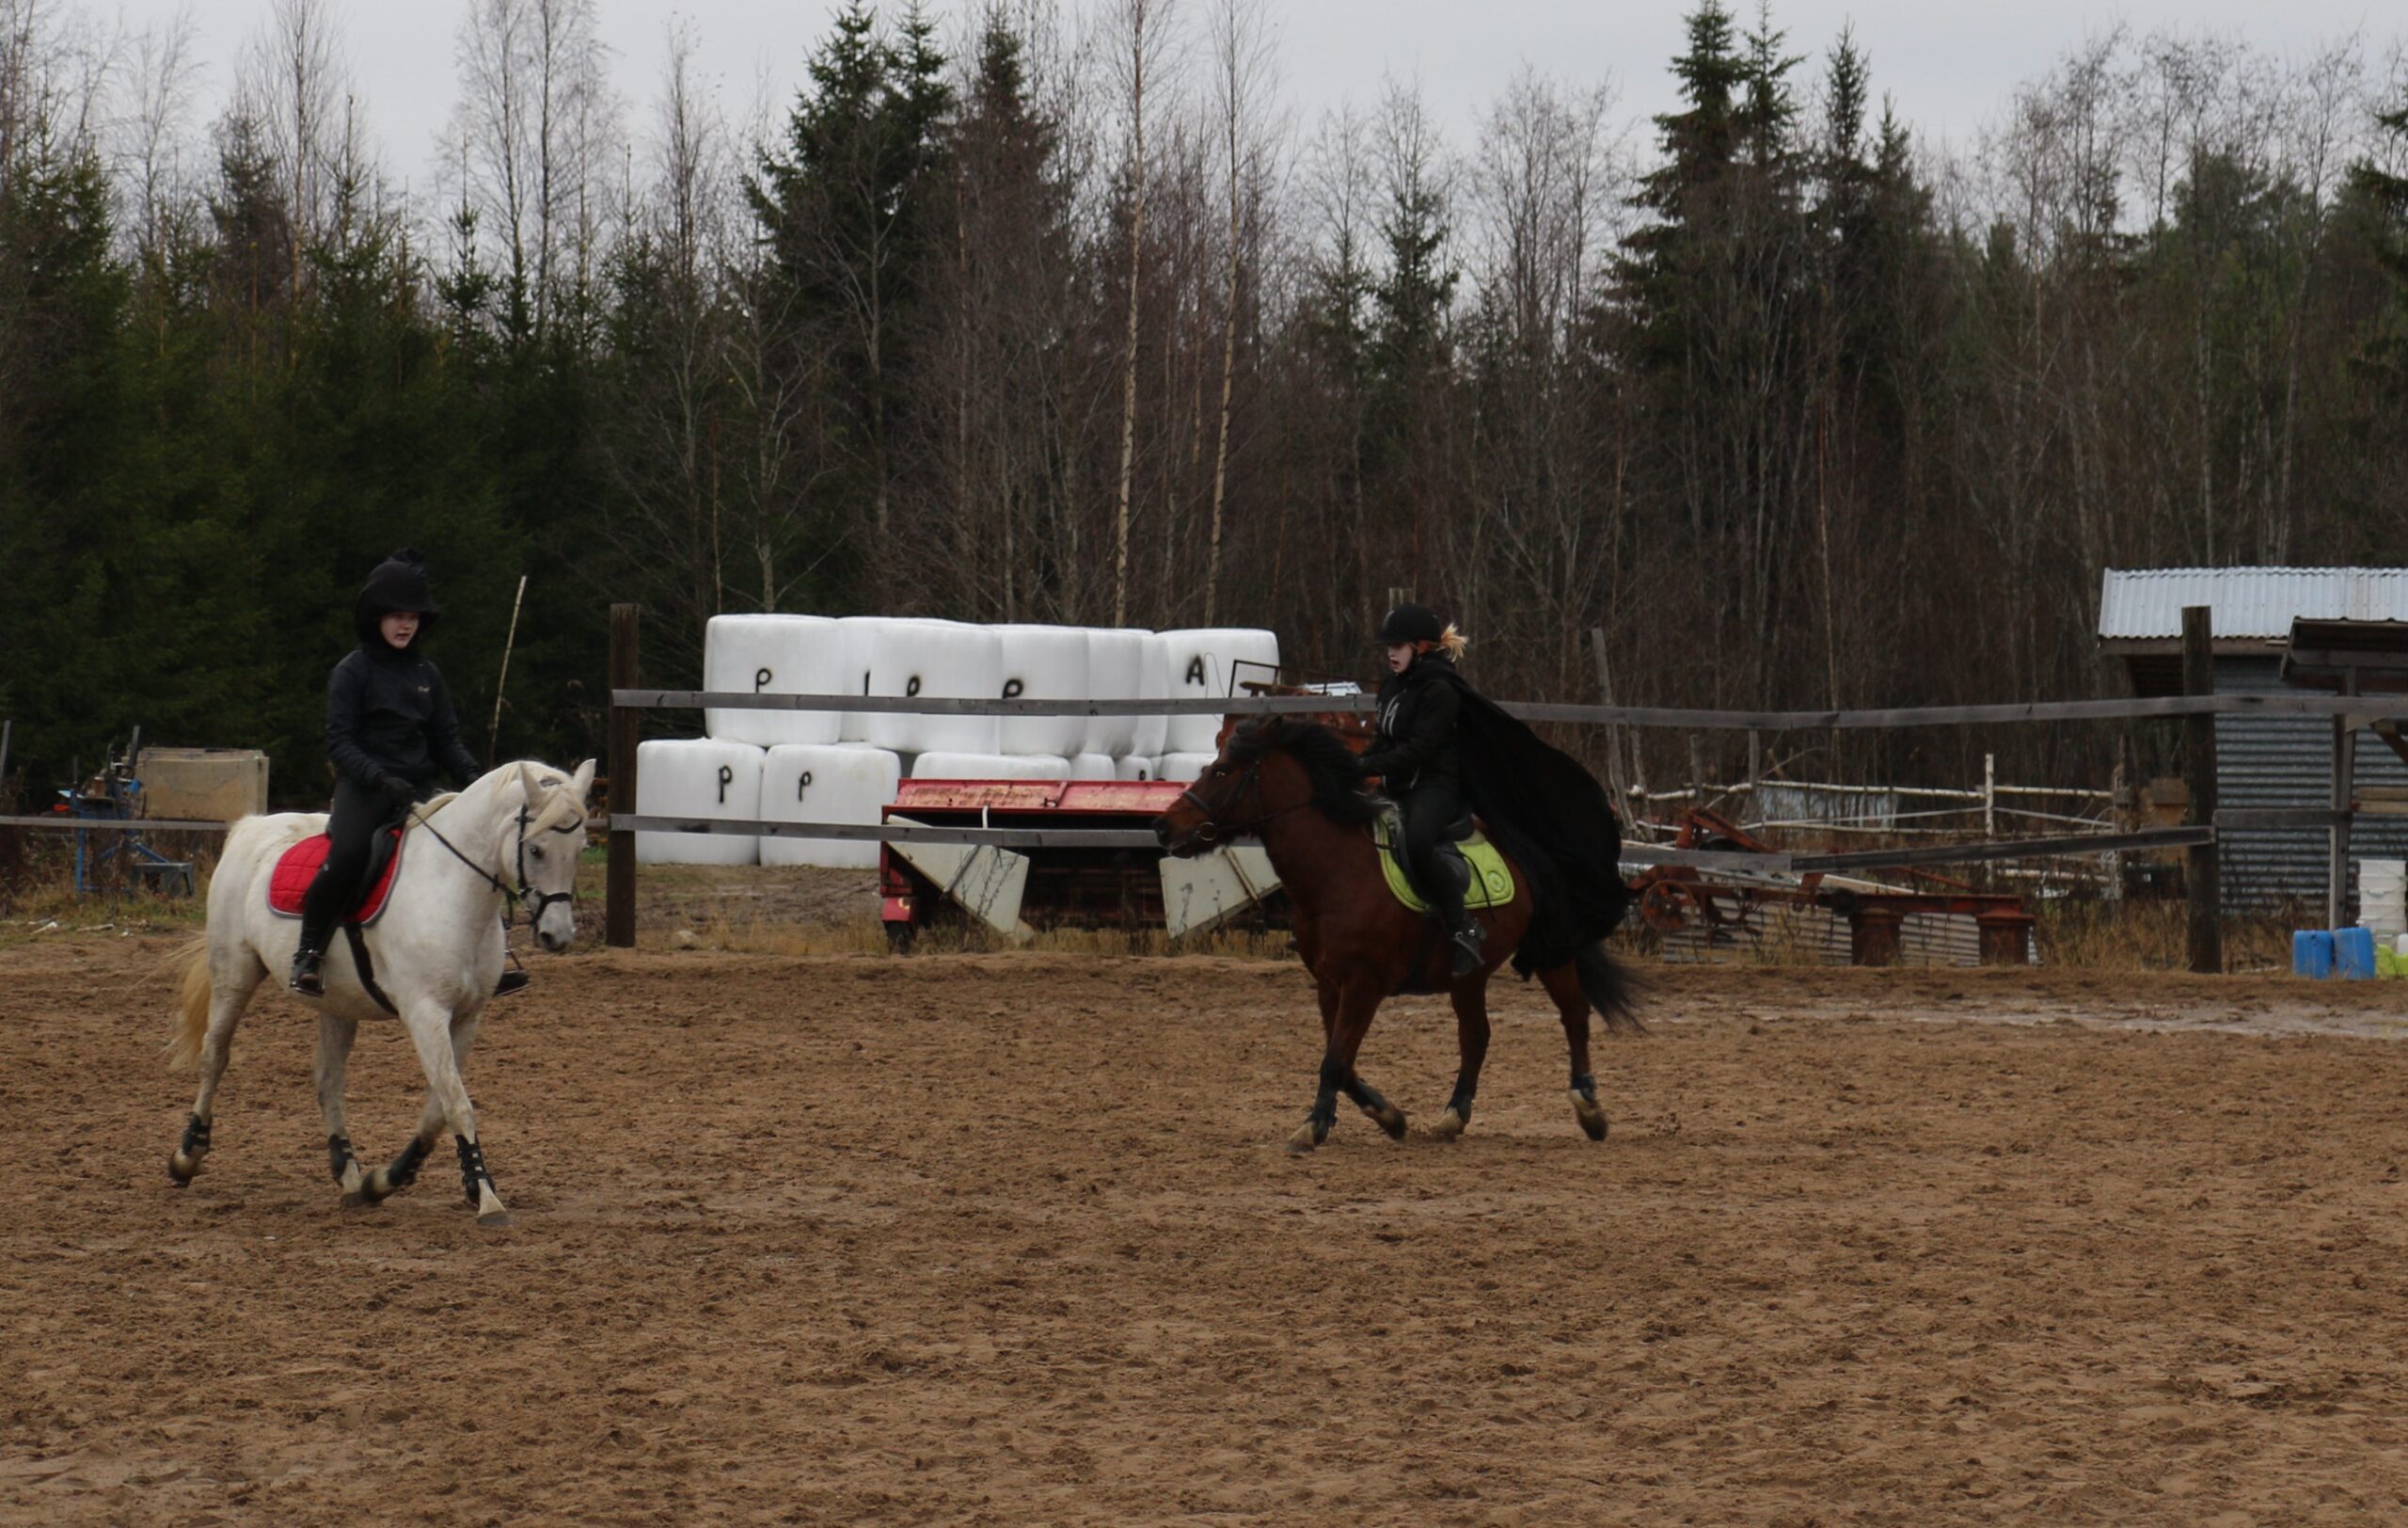
{"type": "MultiPolygon", "coordinates": [[[[852,5],[751,121],[691,31],[626,101],[595,0],[467,0],[405,195],[337,14],[275,0],[202,101],[185,31],[0,0],[26,798],[137,723],[320,798],[397,545],[470,745],[566,762],[614,600],[660,684],[722,610],[1262,624],[1370,677],[1409,590],[1505,699],[1599,699],[1601,629],[1623,704],[1905,706],[2112,692],[2107,566],[2408,564],[2398,39],[2114,29],[1938,152],[1852,36],[1702,0],[1445,142],[1411,82],[1293,101],[1262,0],[852,5]],[[1642,123],[1597,84],[1666,65],[1642,123]]],[[[2102,783],[2109,742],[1775,759],[2102,783]]]]}

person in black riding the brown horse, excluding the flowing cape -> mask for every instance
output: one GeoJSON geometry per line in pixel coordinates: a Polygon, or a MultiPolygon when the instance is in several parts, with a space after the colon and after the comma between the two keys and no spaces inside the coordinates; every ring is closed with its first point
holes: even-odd
{"type": "Polygon", "coordinates": [[[1380,646],[1387,648],[1389,677],[1380,684],[1380,735],[1363,754],[1363,774],[1380,776],[1387,795],[1404,807],[1413,880],[1447,923],[1454,974],[1469,976],[1486,962],[1483,930],[1464,911],[1464,892],[1440,858],[1447,829],[1466,810],[1462,677],[1454,672],[1466,643],[1426,605],[1399,605],[1380,622],[1380,646]]]}

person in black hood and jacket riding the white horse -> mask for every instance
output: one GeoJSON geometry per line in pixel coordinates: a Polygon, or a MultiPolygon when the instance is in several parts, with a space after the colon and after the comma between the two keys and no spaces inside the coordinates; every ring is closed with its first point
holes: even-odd
{"type": "Polygon", "coordinates": [[[325,752],[335,759],[335,841],[301,901],[301,947],[291,988],[325,993],[318,974],[327,935],[359,894],[376,831],[433,793],[436,776],[467,786],[482,769],[460,745],[443,672],[419,653],[436,622],[426,559],[402,547],[368,574],[352,612],[359,646],[335,665],[325,692],[325,752]]]}

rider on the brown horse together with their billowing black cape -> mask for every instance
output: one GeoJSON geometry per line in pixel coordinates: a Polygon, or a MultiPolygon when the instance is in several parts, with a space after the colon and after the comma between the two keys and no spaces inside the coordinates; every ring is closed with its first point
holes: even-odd
{"type": "Polygon", "coordinates": [[[1363,774],[1380,776],[1404,807],[1406,856],[1447,923],[1457,974],[1479,969],[1481,925],[1438,853],[1464,807],[1529,880],[1531,925],[1515,950],[1517,971],[1558,966],[1613,933],[1630,889],[1621,819],[1597,776],[1474,689],[1454,668],[1464,636],[1426,605],[1389,610],[1380,643],[1389,677],[1363,774]]]}

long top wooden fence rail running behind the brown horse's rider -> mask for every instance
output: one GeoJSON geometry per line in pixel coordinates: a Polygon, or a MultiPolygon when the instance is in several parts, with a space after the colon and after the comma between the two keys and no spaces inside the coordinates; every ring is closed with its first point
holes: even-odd
{"type": "MultiPolygon", "coordinates": [[[[874,694],[751,694],[746,689],[633,689],[614,687],[612,704],[636,711],[889,711],[915,716],[1298,716],[1312,711],[1375,711],[1370,694],[1267,694],[1202,701],[1040,701],[1040,699],[934,699],[874,694]]],[[[2338,694],[2170,694],[2107,701],[2013,701],[1999,706],[1905,706],[1890,711],[1683,711],[1674,706],[1558,706],[1551,701],[1503,701],[1522,721],[1570,721],[1630,728],[1799,733],[1883,728],[1970,728],[2052,721],[2172,721],[2182,716],[2353,716],[2362,721],[2408,716],[2408,697],[2394,711],[2369,709],[2369,697],[2338,694]]]]}

